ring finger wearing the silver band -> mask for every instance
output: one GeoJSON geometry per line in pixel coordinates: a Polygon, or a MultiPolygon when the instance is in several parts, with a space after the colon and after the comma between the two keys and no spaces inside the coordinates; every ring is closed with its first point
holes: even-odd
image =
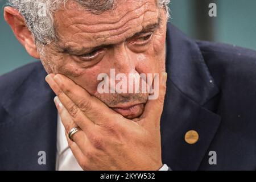
{"type": "MultiPolygon", "coordinates": [[[[68,113],[67,109],[65,109],[65,107],[61,104],[57,97],[55,97],[54,101],[59,112],[61,122],[63,123],[63,126],[65,128],[65,133],[68,134],[71,129],[73,127],[77,127],[77,125],[75,122],[72,121],[71,115],[68,113]]],[[[75,134],[73,134],[72,140],[73,142],[77,143],[77,145],[82,149],[88,139],[84,131],[80,129],[75,134]]]]}

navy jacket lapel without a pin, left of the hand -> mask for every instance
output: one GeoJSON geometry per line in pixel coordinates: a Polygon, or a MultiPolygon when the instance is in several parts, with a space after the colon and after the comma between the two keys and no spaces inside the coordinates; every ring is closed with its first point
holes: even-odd
{"type": "Polygon", "coordinates": [[[36,65],[27,80],[3,103],[10,121],[0,126],[0,154],[7,168],[54,170],[56,157],[57,111],[54,94],[44,81],[46,72],[36,65]],[[38,163],[39,151],[46,152],[46,165],[38,163]],[[3,154],[4,153],[4,154],[3,154]]]}

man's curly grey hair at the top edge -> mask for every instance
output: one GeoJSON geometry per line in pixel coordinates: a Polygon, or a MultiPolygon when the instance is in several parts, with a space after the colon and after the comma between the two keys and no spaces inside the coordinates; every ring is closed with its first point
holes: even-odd
{"type": "MultiPolygon", "coordinates": [[[[28,30],[37,45],[47,45],[56,42],[53,13],[65,4],[68,0],[7,0],[7,5],[14,7],[23,15],[28,30]],[[40,10],[44,11],[40,11],[40,10]],[[41,15],[39,14],[41,13],[41,15]]],[[[94,14],[100,14],[103,11],[110,10],[115,5],[116,0],[73,0],[94,14]]],[[[158,6],[166,9],[169,16],[168,4],[170,0],[156,0],[158,6]]]]}

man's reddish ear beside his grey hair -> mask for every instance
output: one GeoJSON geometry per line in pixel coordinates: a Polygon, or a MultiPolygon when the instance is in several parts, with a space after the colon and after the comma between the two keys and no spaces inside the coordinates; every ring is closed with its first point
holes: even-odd
{"type": "Polygon", "coordinates": [[[31,32],[28,30],[24,18],[13,7],[5,7],[4,18],[14,32],[19,42],[25,47],[28,54],[35,59],[40,59],[39,53],[31,32]]]}

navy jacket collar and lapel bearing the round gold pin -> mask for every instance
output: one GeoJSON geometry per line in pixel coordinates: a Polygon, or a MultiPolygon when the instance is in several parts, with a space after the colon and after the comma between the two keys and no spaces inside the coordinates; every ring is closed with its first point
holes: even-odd
{"type": "Polygon", "coordinates": [[[218,93],[200,49],[168,24],[167,94],[161,121],[162,157],[175,170],[196,170],[207,154],[221,118],[203,105],[218,93]],[[184,135],[189,130],[199,133],[195,144],[184,135]]]}

